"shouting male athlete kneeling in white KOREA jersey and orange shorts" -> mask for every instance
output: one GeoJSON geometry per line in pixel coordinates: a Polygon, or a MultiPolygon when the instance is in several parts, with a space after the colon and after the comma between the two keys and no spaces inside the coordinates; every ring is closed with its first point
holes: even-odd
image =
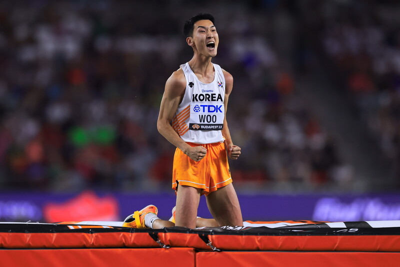
{"type": "MultiPolygon", "coordinates": [[[[218,225],[241,226],[240,205],[227,161],[227,155],[231,159],[240,155],[226,122],[233,78],[211,63],[219,43],[211,15],[192,17],[184,24],[183,33],[193,57],[166,81],[157,120],[159,133],[176,146],[172,172],[175,225],[195,228],[200,196],[205,195],[218,225]]],[[[156,215],[154,206],[147,207],[134,213],[133,225],[151,227],[158,219],[153,217],[150,226],[144,225],[144,215],[156,215]]]]}

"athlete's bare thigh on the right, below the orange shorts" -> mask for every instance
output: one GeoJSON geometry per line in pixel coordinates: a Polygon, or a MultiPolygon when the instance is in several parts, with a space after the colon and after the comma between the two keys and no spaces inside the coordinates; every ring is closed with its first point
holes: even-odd
{"type": "Polygon", "coordinates": [[[230,183],[206,196],[207,206],[219,226],[242,226],[240,204],[230,183]]]}

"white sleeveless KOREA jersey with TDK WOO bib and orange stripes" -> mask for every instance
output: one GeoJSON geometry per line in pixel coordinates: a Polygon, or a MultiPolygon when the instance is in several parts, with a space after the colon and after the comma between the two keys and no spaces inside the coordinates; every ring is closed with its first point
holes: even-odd
{"type": "Polygon", "coordinates": [[[185,142],[210,144],[223,142],[223,119],[225,108],[225,78],[221,67],[214,66],[214,80],[205,84],[198,80],[189,64],[182,64],[186,89],[175,115],[172,128],[185,142]]]}

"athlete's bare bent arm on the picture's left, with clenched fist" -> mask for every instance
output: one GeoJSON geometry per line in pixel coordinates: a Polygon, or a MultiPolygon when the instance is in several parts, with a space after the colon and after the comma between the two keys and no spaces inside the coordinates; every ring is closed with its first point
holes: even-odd
{"type": "Polygon", "coordinates": [[[157,120],[158,132],[171,144],[183,151],[192,160],[199,161],[205,154],[206,149],[202,146],[191,147],[186,144],[171,126],[171,120],[179,103],[182,100],[186,88],[186,79],[181,69],[172,73],[165,83],[162,95],[159,115],[157,120]]]}

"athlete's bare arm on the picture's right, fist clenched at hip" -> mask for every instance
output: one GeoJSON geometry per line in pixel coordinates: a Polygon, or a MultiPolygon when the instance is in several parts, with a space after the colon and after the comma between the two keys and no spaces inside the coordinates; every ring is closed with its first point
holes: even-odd
{"type": "Polygon", "coordinates": [[[233,77],[230,75],[225,70],[222,70],[223,76],[225,77],[225,98],[223,101],[223,105],[225,107],[225,118],[223,120],[223,129],[222,129],[222,135],[225,137],[225,147],[228,153],[229,158],[231,159],[237,159],[240,156],[240,147],[236,146],[232,142],[232,138],[230,137],[230,132],[228,128],[228,123],[226,121],[226,111],[227,111],[227,105],[228,105],[228,99],[229,95],[232,92],[233,88],[233,77]]]}

